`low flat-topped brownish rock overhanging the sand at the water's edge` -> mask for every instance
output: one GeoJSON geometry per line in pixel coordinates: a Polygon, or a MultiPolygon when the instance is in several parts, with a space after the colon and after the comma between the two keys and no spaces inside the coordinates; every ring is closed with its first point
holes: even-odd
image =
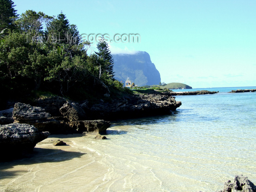
{"type": "Polygon", "coordinates": [[[87,134],[106,134],[106,129],[111,125],[109,121],[104,120],[71,121],[66,124],[77,133],[86,132],[87,134]]]}

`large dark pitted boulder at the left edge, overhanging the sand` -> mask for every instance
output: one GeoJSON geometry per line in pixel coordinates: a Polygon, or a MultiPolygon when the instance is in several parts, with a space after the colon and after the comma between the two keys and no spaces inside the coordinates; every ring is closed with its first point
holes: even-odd
{"type": "Polygon", "coordinates": [[[32,152],[35,145],[49,135],[49,132],[39,132],[37,128],[29,124],[13,123],[1,125],[1,160],[9,160],[32,152]]]}

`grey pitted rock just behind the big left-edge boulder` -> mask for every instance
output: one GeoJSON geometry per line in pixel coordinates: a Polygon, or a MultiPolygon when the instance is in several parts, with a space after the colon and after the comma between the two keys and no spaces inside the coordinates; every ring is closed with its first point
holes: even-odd
{"type": "Polygon", "coordinates": [[[50,116],[50,113],[45,112],[45,109],[25,103],[15,103],[12,112],[15,123],[35,124],[45,121],[50,116]]]}

